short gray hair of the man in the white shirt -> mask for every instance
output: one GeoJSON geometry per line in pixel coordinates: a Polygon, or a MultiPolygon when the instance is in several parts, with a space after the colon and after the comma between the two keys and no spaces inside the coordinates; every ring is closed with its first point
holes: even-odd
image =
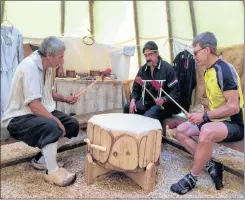
{"type": "Polygon", "coordinates": [[[42,44],[40,45],[38,52],[42,56],[56,56],[59,50],[65,50],[65,44],[57,37],[47,37],[44,38],[42,44]]]}

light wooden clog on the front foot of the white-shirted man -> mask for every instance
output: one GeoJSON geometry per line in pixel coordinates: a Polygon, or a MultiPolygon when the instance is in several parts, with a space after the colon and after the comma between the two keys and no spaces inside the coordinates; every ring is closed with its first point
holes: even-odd
{"type": "Polygon", "coordinates": [[[76,174],[67,171],[63,167],[57,169],[53,174],[47,173],[44,175],[44,180],[60,187],[71,185],[76,180],[76,174]]]}

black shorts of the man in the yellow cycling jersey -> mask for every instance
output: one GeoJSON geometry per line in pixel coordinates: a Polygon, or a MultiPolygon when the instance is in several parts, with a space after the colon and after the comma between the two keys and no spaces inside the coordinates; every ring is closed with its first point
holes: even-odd
{"type": "MultiPolygon", "coordinates": [[[[198,129],[201,130],[201,127],[206,124],[209,123],[211,121],[208,122],[202,122],[201,124],[197,125],[198,129]]],[[[221,121],[223,122],[227,129],[228,129],[228,136],[222,140],[221,142],[235,142],[235,141],[239,141],[242,140],[244,137],[244,124],[236,124],[236,123],[232,123],[229,121],[221,121]]]]}

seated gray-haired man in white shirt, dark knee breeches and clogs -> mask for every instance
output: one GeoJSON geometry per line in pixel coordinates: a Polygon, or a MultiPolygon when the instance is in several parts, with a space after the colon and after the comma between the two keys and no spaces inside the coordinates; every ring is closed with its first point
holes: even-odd
{"type": "Polygon", "coordinates": [[[77,97],[63,97],[53,90],[52,68],[64,63],[65,49],[60,39],[45,38],[39,50],[18,65],[2,119],[13,138],[41,149],[32,164],[47,169],[45,181],[58,186],[72,184],[76,174],[58,166],[57,148],[79,132],[75,118],[55,110],[55,101],[77,102],[77,97]]]}

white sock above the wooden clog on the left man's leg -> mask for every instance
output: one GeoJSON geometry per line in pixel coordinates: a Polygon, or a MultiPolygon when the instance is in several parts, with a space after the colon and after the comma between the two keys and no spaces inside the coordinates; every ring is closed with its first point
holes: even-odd
{"type": "Polygon", "coordinates": [[[57,156],[57,142],[47,144],[45,147],[41,149],[43,157],[46,162],[46,166],[48,169],[48,174],[54,173],[59,166],[57,164],[56,156],[57,156]]]}

